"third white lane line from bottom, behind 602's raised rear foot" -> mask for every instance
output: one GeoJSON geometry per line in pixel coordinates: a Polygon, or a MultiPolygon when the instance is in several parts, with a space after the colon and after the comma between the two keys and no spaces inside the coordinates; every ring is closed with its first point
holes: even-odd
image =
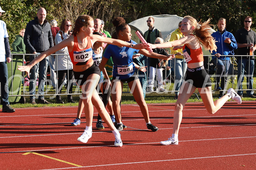
{"type": "MultiPolygon", "coordinates": [[[[227,127],[227,126],[255,126],[255,124],[242,124],[242,125],[219,125],[219,126],[196,126],[196,127],[181,127],[180,129],[190,129],[190,128],[213,128],[213,127],[227,127]]],[[[130,132],[130,131],[139,131],[139,130],[144,130],[148,131],[148,129],[136,129],[127,126],[127,128],[134,129],[134,130],[123,130],[122,132],[130,132]]],[[[166,130],[166,129],[173,129],[173,128],[161,128],[159,130],[166,130]]],[[[111,131],[93,131],[92,133],[109,133],[111,131]]],[[[5,136],[5,137],[0,137],[0,138],[11,138],[11,137],[34,137],[34,136],[52,136],[52,135],[74,135],[74,134],[81,134],[81,132],[78,133],[65,133],[65,134],[47,134],[47,135],[26,135],[26,136],[5,136]]]]}

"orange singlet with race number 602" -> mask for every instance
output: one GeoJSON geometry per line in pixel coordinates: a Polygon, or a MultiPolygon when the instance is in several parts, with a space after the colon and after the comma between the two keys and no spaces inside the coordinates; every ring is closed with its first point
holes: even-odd
{"type": "Polygon", "coordinates": [[[69,52],[70,59],[74,65],[81,66],[93,62],[92,60],[92,44],[91,39],[87,36],[87,47],[85,49],[79,49],[77,36],[74,35],[74,47],[69,52]]]}

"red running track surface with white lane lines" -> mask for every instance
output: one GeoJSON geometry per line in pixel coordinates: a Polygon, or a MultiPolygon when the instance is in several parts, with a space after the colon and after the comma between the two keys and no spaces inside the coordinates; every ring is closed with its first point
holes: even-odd
{"type": "MultiPolygon", "coordinates": [[[[227,102],[208,114],[203,103],[187,103],[179,145],[163,146],[172,134],[174,103],[148,104],[147,130],[137,104],[121,106],[123,147],[114,147],[106,127],[95,128],[87,143],[77,138],[82,123],[71,126],[77,107],[17,108],[0,113],[0,169],[256,169],[256,101],[227,102]]],[[[0,110],[1,111],[1,110],[0,110]]]]}

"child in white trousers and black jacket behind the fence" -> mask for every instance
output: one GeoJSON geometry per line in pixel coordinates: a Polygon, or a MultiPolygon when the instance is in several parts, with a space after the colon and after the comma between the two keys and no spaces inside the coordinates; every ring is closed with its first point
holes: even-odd
{"type": "MultiPolygon", "coordinates": [[[[155,44],[163,43],[164,40],[160,37],[156,38],[155,44]]],[[[167,56],[168,53],[164,49],[153,49],[153,52],[167,56]]],[[[153,92],[155,75],[158,82],[156,91],[166,91],[164,85],[162,84],[162,60],[159,58],[150,58],[150,67],[149,67],[149,92],[153,92]]]]}

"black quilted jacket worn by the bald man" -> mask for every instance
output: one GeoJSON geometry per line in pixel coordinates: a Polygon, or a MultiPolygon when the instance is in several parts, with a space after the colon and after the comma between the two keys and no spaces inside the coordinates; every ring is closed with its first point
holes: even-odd
{"type": "Polygon", "coordinates": [[[53,37],[50,24],[44,20],[43,25],[37,21],[37,17],[27,23],[24,44],[30,53],[43,52],[53,47],[53,37]]]}

